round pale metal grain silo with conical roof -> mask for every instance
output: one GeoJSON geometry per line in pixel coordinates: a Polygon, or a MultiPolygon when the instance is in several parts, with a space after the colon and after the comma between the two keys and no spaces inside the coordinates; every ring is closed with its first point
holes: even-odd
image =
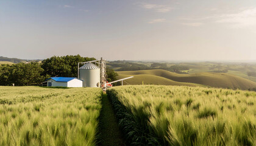
{"type": "Polygon", "coordinates": [[[79,78],[84,80],[84,87],[100,86],[100,68],[93,63],[86,63],[79,68],[79,78]]]}

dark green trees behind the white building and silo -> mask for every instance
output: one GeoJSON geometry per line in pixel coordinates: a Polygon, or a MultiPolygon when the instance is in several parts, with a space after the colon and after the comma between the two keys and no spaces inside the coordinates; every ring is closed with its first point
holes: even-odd
{"type": "MultiPolygon", "coordinates": [[[[40,85],[49,77],[77,77],[77,63],[96,60],[80,55],[66,55],[51,57],[41,63],[1,64],[0,85],[15,86],[40,85]]],[[[108,80],[116,80],[118,74],[107,68],[108,80]]]]}

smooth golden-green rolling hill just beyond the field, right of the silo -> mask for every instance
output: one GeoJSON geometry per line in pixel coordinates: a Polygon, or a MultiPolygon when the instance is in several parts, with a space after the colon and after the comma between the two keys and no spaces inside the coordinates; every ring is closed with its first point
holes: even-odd
{"type": "MultiPolygon", "coordinates": [[[[197,83],[217,88],[249,89],[256,87],[256,83],[251,80],[226,73],[201,72],[195,74],[176,74],[163,69],[153,69],[143,71],[120,71],[118,74],[120,77],[122,77],[122,75],[140,75],[137,80],[141,80],[140,78],[144,75],[155,75],[176,82],[197,83]]],[[[135,78],[133,80],[135,80],[135,78]]],[[[129,83],[129,80],[127,80],[127,82],[129,83]]],[[[132,82],[130,83],[133,84],[132,82]]],[[[154,82],[154,84],[157,84],[157,82],[154,82]]]]}

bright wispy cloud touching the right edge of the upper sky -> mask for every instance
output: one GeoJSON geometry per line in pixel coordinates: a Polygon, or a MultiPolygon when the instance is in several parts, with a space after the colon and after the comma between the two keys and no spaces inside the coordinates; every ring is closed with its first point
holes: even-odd
{"type": "Polygon", "coordinates": [[[229,24],[232,27],[256,27],[256,7],[242,10],[239,13],[219,16],[216,23],[229,24]]]}

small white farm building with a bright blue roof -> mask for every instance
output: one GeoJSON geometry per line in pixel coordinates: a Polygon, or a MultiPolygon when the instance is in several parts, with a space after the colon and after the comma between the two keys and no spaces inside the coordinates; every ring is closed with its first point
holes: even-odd
{"type": "Polygon", "coordinates": [[[46,82],[47,86],[82,87],[84,81],[76,77],[51,77],[46,82]]]}

